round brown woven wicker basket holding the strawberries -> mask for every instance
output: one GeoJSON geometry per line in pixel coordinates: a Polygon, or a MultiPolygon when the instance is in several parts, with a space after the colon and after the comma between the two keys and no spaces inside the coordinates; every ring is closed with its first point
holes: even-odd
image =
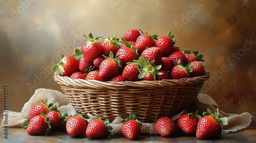
{"type": "Polygon", "coordinates": [[[71,79],[54,73],[55,81],[79,113],[91,113],[113,121],[136,114],[141,122],[156,116],[171,117],[197,97],[209,73],[194,78],[161,81],[101,82],[71,79]]]}

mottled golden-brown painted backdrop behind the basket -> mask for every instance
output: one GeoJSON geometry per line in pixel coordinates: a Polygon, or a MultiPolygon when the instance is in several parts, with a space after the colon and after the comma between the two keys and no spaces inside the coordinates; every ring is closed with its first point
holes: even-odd
{"type": "Polygon", "coordinates": [[[255,1],[0,1],[0,109],[20,111],[38,88],[59,90],[50,68],[83,43],[82,34],[117,37],[130,28],[204,54],[211,73],[201,93],[221,110],[249,112],[256,102],[255,1]]]}

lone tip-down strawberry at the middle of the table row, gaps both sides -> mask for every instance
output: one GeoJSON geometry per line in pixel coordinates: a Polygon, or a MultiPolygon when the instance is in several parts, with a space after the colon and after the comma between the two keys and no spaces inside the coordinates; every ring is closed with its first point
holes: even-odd
{"type": "Polygon", "coordinates": [[[136,115],[130,115],[127,119],[121,119],[122,134],[129,139],[136,139],[141,133],[142,123],[137,120],[136,115]]]}

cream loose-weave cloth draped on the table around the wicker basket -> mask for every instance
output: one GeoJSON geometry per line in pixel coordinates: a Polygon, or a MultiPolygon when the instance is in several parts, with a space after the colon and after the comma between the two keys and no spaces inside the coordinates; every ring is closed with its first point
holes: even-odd
{"type": "MultiPolygon", "coordinates": [[[[30,98],[30,100],[24,104],[24,107],[22,108],[21,112],[15,112],[15,111],[8,111],[8,126],[9,127],[20,127],[25,120],[28,119],[29,110],[32,108],[32,106],[37,103],[40,100],[48,100],[47,103],[53,103],[53,105],[56,105],[60,111],[66,111],[68,115],[75,115],[76,109],[71,105],[71,103],[68,101],[68,98],[66,95],[55,91],[55,90],[49,90],[49,89],[37,89],[34,93],[34,95],[30,98]]],[[[202,113],[205,108],[209,108],[211,110],[217,110],[219,109],[218,104],[208,95],[206,94],[199,94],[197,99],[191,104],[189,107],[189,111],[196,111],[199,110],[199,113],[202,113]]],[[[176,120],[179,118],[179,116],[186,112],[188,110],[183,110],[178,115],[172,117],[173,120],[176,120]]],[[[6,113],[6,111],[5,111],[6,113]]],[[[90,115],[88,122],[94,119],[94,115],[90,115]]],[[[237,114],[231,114],[231,113],[225,113],[220,110],[219,117],[227,117],[228,119],[228,125],[223,126],[222,133],[228,133],[228,132],[237,132],[239,130],[242,130],[250,125],[251,122],[251,115],[250,113],[244,112],[241,115],[237,114]]],[[[126,117],[123,117],[126,118],[126,117]]],[[[117,117],[110,125],[113,127],[113,130],[111,131],[112,134],[121,133],[121,117],[117,117]]],[[[2,121],[2,126],[4,125],[4,119],[2,121]]],[[[142,130],[143,133],[148,134],[155,134],[154,131],[154,123],[142,123],[142,130]]]]}

